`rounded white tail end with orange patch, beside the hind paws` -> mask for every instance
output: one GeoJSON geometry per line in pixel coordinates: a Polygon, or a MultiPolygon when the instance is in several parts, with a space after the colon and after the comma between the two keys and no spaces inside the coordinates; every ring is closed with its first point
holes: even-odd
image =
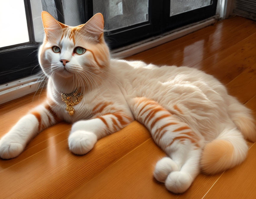
{"type": "Polygon", "coordinates": [[[206,174],[216,174],[232,168],[246,158],[248,146],[238,129],[225,129],[217,139],[205,145],[201,169],[206,174]]]}

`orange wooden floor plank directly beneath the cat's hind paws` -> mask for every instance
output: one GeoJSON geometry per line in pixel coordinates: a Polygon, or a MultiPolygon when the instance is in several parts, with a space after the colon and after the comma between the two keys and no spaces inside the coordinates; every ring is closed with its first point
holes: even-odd
{"type": "Polygon", "coordinates": [[[156,162],[164,156],[153,140],[148,139],[67,198],[82,198],[84,195],[88,198],[200,198],[220,176],[200,174],[186,193],[173,194],[152,175],[156,162]]]}

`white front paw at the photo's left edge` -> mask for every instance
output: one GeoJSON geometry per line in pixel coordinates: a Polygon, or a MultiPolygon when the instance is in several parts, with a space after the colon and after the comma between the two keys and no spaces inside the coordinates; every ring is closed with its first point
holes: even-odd
{"type": "Polygon", "coordinates": [[[0,142],[0,157],[2,159],[15,158],[24,150],[24,146],[17,142],[11,142],[3,139],[0,142]]]}

